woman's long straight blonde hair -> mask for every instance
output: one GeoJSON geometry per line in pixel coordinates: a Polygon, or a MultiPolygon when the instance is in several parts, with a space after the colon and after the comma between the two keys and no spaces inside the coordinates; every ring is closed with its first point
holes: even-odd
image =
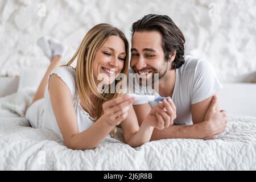
{"type": "MultiPolygon", "coordinates": [[[[77,90],[80,97],[80,100],[84,104],[86,111],[90,115],[96,115],[96,120],[101,117],[103,113],[102,105],[104,102],[112,100],[121,96],[119,93],[100,93],[97,89],[97,86],[93,77],[93,61],[96,54],[96,51],[106,42],[109,36],[118,36],[125,43],[125,62],[121,73],[127,75],[128,66],[129,66],[129,43],[125,37],[125,34],[118,28],[113,27],[110,24],[102,23],[91,28],[88,33],[85,35],[84,39],[77,49],[75,55],[67,63],[71,65],[73,61],[77,58],[76,64],[76,84],[77,90]],[[97,100],[92,101],[94,96],[97,97],[97,100]],[[96,112],[93,113],[93,111],[96,112]]],[[[123,82],[123,80],[121,80],[123,82]]],[[[115,80],[112,84],[117,84],[119,81],[115,80]]],[[[120,83],[122,85],[122,83],[120,83]]],[[[117,133],[117,128],[114,127],[110,135],[114,137],[117,133]]]]}

